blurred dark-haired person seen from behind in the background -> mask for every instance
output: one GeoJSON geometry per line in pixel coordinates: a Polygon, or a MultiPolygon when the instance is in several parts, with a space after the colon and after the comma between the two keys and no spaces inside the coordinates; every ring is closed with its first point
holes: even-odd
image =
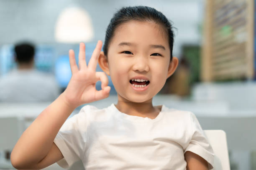
{"type": "Polygon", "coordinates": [[[34,67],[35,47],[29,42],[15,45],[17,69],[0,78],[0,102],[50,102],[60,94],[54,76],[34,67]]]}

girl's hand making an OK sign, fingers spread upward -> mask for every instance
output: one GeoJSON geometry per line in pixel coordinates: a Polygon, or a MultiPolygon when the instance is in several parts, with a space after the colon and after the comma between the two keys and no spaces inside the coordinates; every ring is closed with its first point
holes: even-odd
{"type": "Polygon", "coordinates": [[[74,51],[69,50],[72,77],[62,95],[71,107],[78,107],[79,105],[108,97],[110,92],[108,77],[104,72],[96,72],[101,47],[102,41],[99,40],[87,66],[85,61],[85,45],[81,42],[79,47],[79,68],[76,64],[74,51]],[[96,82],[99,80],[101,81],[102,90],[96,90],[95,87],[96,82]]]}

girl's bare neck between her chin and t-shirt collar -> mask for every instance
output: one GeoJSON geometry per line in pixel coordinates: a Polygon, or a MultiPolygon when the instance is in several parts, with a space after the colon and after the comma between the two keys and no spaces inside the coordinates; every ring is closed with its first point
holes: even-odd
{"type": "Polygon", "coordinates": [[[156,117],[161,111],[161,106],[154,107],[152,98],[145,102],[131,102],[118,95],[118,103],[115,105],[120,112],[140,117],[156,117]]]}

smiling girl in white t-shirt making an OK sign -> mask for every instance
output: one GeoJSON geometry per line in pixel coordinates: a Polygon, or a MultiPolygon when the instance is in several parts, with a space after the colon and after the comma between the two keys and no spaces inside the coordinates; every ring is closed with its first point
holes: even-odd
{"type": "Polygon", "coordinates": [[[178,65],[173,42],[172,25],[159,11],[120,9],[108,25],[103,52],[98,41],[88,65],[84,43],[79,67],[69,51],[69,85],[20,137],[11,154],[13,166],[40,169],[57,162],[69,167],[81,159],[86,170],[212,168],[214,154],[195,115],[152,105],[178,65]],[[86,105],[67,120],[79,105],[108,97],[108,78],[95,72],[97,62],[111,76],[118,103],[104,109],[86,105]]]}

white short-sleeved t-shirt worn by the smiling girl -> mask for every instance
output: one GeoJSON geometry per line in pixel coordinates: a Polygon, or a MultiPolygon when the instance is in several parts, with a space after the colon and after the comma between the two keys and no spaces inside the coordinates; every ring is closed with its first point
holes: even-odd
{"type": "Polygon", "coordinates": [[[155,119],[127,115],[114,104],[84,106],[54,139],[67,168],[81,159],[86,170],[186,170],[184,153],[213,166],[214,153],[192,112],[162,105],[155,119]]]}

